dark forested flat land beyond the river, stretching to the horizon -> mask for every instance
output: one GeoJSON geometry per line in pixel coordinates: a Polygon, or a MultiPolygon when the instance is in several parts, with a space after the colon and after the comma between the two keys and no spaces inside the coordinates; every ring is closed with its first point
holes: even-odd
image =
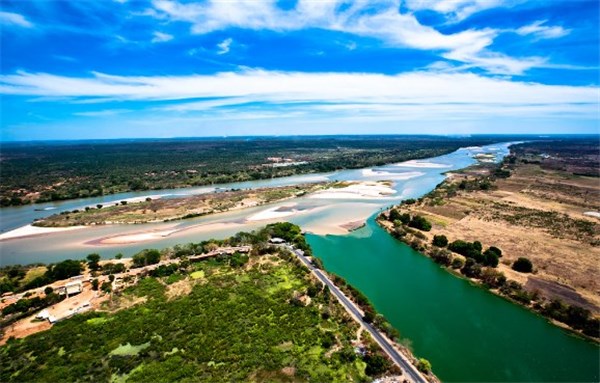
{"type": "Polygon", "coordinates": [[[383,165],[505,139],[336,136],[7,144],[0,205],[383,165]],[[269,157],[306,163],[274,167],[269,157]]]}

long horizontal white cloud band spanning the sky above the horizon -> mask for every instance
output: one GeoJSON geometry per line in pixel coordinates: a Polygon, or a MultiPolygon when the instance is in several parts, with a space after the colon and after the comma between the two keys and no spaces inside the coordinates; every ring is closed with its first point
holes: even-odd
{"type": "MultiPolygon", "coordinates": [[[[151,102],[148,108],[152,110],[202,113],[203,118],[304,113],[364,121],[553,116],[594,119],[598,118],[599,95],[597,87],[515,82],[467,73],[383,75],[263,70],[154,77],[94,73],[87,78],[18,72],[0,75],[0,93],[47,100],[143,100],[151,102]],[[161,101],[167,100],[171,102],[162,105],[161,101]]],[[[100,116],[93,111],[81,113],[100,116]]]]}

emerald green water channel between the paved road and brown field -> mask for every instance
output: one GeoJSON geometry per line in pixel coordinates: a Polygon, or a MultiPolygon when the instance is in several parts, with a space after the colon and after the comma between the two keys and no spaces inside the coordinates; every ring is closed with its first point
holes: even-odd
{"type": "Polygon", "coordinates": [[[307,239],[325,268],[367,295],[442,381],[599,380],[597,345],[450,274],[374,219],[351,235],[307,239]]]}

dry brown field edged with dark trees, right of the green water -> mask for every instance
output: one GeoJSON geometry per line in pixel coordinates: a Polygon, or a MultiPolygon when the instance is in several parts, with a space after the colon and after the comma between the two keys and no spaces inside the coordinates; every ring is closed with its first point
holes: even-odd
{"type": "Polygon", "coordinates": [[[599,209],[600,185],[572,170],[595,174],[598,143],[528,143],[512,152],[500,167],[450,174],[378,222],[450,270],[597,340],[600,224],[583,213],[599,209]]]}

